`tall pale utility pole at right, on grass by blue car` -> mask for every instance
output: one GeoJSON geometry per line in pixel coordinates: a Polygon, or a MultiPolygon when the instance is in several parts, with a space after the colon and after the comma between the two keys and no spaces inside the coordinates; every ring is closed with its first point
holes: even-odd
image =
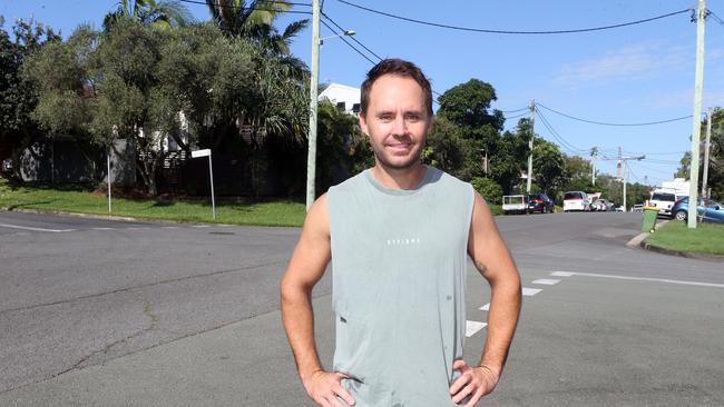
{"type": "Polygon", "coordinates": [[[698,145],[702,137],[702,92],[704,88],[704,28],[706,27],[706,6],[698,0],[696,10],[696,75],[694,77],[694,115],[692,118],[692,165],[689,166],[688,218],[689,229],[696,228],[696,197],[698,186],[698,145]]]}

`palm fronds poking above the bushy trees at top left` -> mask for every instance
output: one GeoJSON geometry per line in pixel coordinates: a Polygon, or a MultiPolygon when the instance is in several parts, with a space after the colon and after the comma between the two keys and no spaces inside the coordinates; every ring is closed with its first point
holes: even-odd
{"type": "Polygon", "coordinates": [[[186,6],[178,0],[119,0],[116,11],[104,18],[104,30],[123,18],[157,28],[187,26],[194,21],[186,6]]]}

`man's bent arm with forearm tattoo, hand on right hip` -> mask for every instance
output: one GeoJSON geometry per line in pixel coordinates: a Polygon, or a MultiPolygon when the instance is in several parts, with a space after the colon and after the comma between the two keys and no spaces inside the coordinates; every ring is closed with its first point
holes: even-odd
{"type": "Polygon", "coordinates": [[[518,268],[488,205],[478,193],[472,209],[468,254],[490,284],[488,337],[479,366],[470,367],[463,360],[456,360],[453,368],[462,375],[452,384],[450,393],[454,403],[470,396],[466,406],[474,406],[482,396],[492,391],[500,379],[518,324],[521,299],[518,268]]]}

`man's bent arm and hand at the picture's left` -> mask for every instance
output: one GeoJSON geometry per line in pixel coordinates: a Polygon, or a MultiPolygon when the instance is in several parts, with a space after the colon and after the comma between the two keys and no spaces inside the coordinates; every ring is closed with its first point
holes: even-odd
{"type": "Polygon", "coordinates": [[[331,258],[330,222],[326,215],[326,195],[310,208],[302,236],[281,282],[282,319],[294,353],[302,384],[320,406],[339,406],[336,397],[354,405],[352,396],[340,381],[339,373],[324,371],[314,340],[312,289],[324,275],[331,258]]]}

